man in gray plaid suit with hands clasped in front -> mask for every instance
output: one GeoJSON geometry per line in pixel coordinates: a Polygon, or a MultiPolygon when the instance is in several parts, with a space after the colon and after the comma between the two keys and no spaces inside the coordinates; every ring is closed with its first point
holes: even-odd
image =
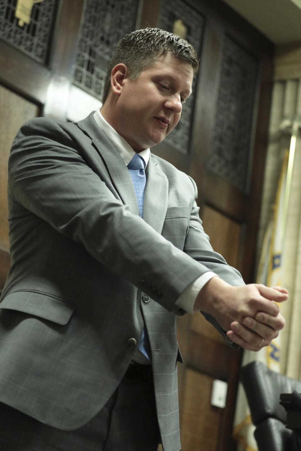
{"type": "Polygon", "coordinates": [[[160,442],[177,451],[176,315],[200,310],[249,350],[283,327],[272,300],[286,290],[244,285],[209,244],[194,181],[149,151],[180,120],[197,70],[180,37],[133,32],[111,60],[100,111],[77,124],[29,120],[17,134],[1,451],[155,451],[160,442]]]}

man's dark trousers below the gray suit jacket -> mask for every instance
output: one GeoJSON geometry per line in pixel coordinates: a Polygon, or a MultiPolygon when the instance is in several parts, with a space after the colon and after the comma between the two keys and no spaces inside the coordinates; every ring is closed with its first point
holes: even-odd
{"type": "Polygon", "coordinates": [[[126,376],[104,408],[75,431],[52,428],[0,404],[0,450],[157,451],[160,434],[151,368],[130,365],[126,376]]]}

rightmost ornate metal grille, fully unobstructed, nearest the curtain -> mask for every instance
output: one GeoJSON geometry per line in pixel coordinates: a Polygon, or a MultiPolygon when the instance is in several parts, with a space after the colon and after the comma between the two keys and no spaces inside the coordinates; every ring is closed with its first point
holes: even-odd
{"type": "Polygon", "coordinates": [[[258,61],[224,37],[215,125],[207,169],[245,191],[258,61]]]}

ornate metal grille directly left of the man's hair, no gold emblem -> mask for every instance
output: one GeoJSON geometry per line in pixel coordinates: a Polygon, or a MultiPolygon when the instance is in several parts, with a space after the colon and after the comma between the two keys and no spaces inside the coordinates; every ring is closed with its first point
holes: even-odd
{"type": "Polygon", "coordinates": [[[135,29],[139,0],[87,0],[83,12],[74,84],[102,98],[107,65],[117,42],[135,29]]]}

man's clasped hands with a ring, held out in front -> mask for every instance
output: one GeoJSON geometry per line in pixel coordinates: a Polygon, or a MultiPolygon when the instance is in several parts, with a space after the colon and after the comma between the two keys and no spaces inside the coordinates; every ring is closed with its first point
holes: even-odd
{"type": "Polygon", "coordinates": [[[200,290],[194,307],[212,315],[227,331],[229,340],[246,350],[258,351],[284,327],[285,320],[275,302],[287,298],[287,290],[279,286],[232,286],[213,277],[200,290]]]}

